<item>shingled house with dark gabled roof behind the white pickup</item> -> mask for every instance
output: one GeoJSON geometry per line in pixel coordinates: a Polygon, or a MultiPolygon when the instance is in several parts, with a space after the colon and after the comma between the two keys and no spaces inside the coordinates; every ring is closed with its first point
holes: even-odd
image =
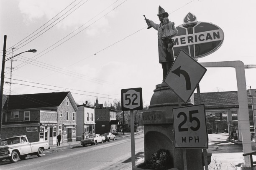
{"type": "Polygon", "coordinates": [[[27,135],[30,142],[76,140],[78,107],[70,92],[9,95],[3,106],[2,139],[27,135]]]}

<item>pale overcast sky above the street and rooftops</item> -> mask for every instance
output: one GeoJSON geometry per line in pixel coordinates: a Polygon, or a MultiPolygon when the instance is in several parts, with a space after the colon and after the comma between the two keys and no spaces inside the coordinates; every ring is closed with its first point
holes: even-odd
{"type": "MultiPolygon", "coordinates": [[[[223,45],[198,62],[256,65],[255,0],[1,0],[0,55],[4,35],[6,58],[12,47],[13,55],[38,50],[15,57],[11,94],[70,91],[78,104],[93,104],[96,97],[103,104],[120,100],[121,89],[142,87],[143,103],[149,105],[162,68],[157,31],[147,29],[143,15],[159,23],[159,5],[176,26],[190,12],[223,30],[223,45]]],[[[10,67],[7,61],[8,82],[10,67]]],[[[245,72],[247,89],[256,88],[256,69],[245,72]]],[[[4,94],[9,89],[5,84],[4,94]]],[[[207,68],[200,91],[218,90],[237,90],[234,68],[207,68]]]]}

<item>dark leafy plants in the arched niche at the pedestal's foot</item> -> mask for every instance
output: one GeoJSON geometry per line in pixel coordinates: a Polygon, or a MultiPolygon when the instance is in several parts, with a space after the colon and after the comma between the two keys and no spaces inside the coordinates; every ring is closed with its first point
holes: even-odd
{"type": "Polygon", "coordinates": [[[172,168],[171,154],[169,150],[159,149],[151,157],[149,161],[139,164],[137,167],[152,170],[168,170],[172,168]]]}

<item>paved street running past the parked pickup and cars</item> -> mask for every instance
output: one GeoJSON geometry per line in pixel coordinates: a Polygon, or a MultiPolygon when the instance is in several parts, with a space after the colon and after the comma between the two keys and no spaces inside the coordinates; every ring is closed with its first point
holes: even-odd
{"type": "MultiPolygon", "coordinates": [[[[144,151],[143,132],[135,135],[136,153],[144,151]]],[[[131,170],[131,137],[87,147],[76,145],[46,150],[17,163],[3,161],[1,170],[131,170]]]]}

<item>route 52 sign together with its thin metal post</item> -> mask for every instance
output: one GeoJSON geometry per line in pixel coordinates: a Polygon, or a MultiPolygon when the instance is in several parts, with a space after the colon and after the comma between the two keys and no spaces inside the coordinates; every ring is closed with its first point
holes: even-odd
{"type": "Polygon", "coordinates": [[[134,114],[133,110],[142,110],[142,88],[131,88],[121,90],[122,110],[130,110],[131,114],[131,160],[132,167],[135,166],[135,139],[134,139],[134,114]]]}

